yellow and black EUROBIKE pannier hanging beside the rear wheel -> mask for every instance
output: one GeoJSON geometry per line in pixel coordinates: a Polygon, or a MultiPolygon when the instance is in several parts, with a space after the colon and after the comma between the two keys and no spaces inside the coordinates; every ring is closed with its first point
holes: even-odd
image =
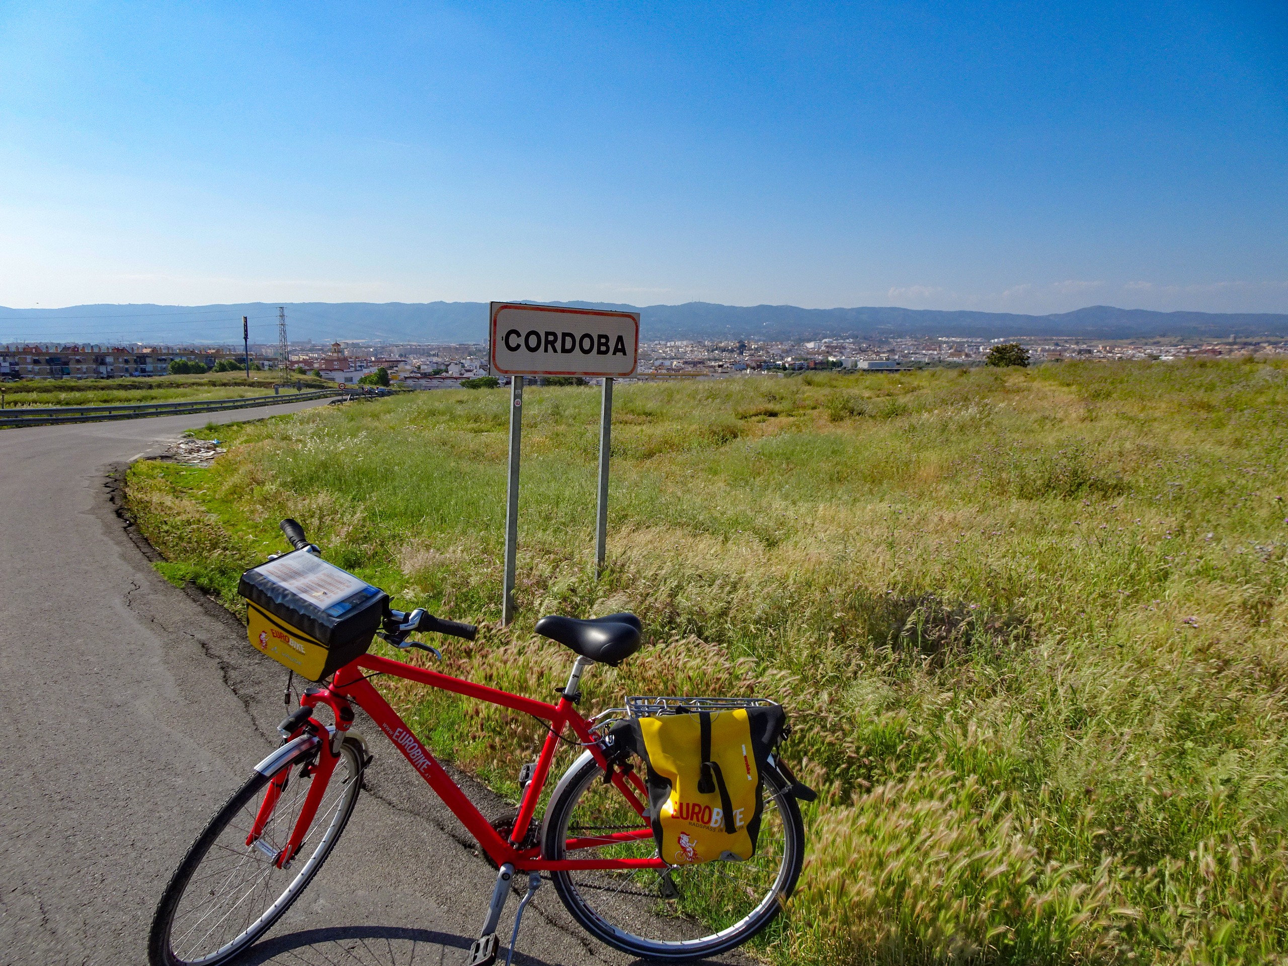
{"type": "Polygon", "coordinates": [[[768,759],[782,741],[781,707],[658,715],[636,720],[648,761],[658,855],[671,866],[756,854],[768,759]]]}

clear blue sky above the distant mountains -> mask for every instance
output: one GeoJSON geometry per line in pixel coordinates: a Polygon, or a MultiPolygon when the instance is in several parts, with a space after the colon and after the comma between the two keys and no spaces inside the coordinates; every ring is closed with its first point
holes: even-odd
{"type": "Polygon", "coordinates": [[[1288,312],[1288,5],[0,3],[0,304],[1288,312]]]}

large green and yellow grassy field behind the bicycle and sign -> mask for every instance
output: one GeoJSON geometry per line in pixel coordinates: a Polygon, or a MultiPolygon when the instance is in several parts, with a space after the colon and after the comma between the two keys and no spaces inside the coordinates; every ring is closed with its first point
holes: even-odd
{"type": "MultiPolygon", "coordinates": [[[[632,609],[650,647],[590,705],[782,699],[826,795],[768,960],[1288,962],[1288,368],[621,386],[599,582],[598,402],[527,394],[509,630],[505,390],[222,426],[213,469],[138,464],[130,502],[234,608],[292,515],[407,607],[489,622],[452,672],[547,697],[568,654],[536,617],[632,609]]],[[[540,739],[386,693],[501,788],[540,739]]]]}

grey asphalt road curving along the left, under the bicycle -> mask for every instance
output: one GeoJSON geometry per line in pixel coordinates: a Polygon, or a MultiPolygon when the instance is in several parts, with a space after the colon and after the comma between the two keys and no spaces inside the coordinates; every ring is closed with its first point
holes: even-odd
{"type": "MultiPolygon", "coordinates": [[[[276,743],[278,666],[227,612],[166,583],[111,501],[113,465],[207,421],[0,431],[0,962],[144,962],[170,872],[276,743]]],[[[370,793],[242,962],[464,962],[495,873],[374,728],[367,737],[370,793]]],[[[626,961],[581,933],[549,885],[519,945],[523,963],[626,961]]]]}

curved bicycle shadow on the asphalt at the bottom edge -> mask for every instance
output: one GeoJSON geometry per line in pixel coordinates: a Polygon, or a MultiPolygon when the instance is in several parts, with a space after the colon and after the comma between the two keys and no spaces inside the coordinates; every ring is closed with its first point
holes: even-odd
{"type": "MultiPolygon", "coordinates": [[[[326,929],[305,929],[299,933],[273,936],[247,949],[234,960],[236,966],[270,966],[291,963],[292,966],[337,966],[340,963],[361,963],[362,966],[411,966],[411,963],[464,961],[464,954],[474,942],[471,936],[452,933],[439,933],[433,929],[411,929],[406,926],[328,926],[326,929]],[[459,954],[446,956],[451,951],[459,954]]],[[[519,938],[520,945],[523,938],[519,938]]],[[[501,951],[498,962],[505,962],[501,951]]],[[[514,951],[516,966],[560,966],[523,949],[514,951]]]]}

